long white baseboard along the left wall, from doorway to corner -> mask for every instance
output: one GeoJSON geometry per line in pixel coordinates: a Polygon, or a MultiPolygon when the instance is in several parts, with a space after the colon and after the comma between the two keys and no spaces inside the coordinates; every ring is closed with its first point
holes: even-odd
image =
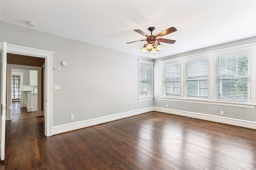
{"type": "Polygon", "coordinates": [[[139,115],[139,114],[146,113],[146,112],[153,111],[153,110],[154,110],[153,107],[148,107],[148,108],[144,108],[144,109],[128,111],[125,113],[118,113],[118,114],[114,114],[114,115],[98,117],[95,119],[89,119],[89,120],[85,120],[85,121],[78,121],[78,122],[74,122],[74,123],[68,123],[65,125],[54,126],[54,127],[52,127],[52,135],[55,135],[58,133],[64,133],[64,132],[68,132],[68,131],[74,131],[76,129],[90,127],[93,125],[98,125],[98,124],[102,124],[102,123],[106,123],[106,122],[110,122],[110,121],[114,121],[114,120],[118,120],[118,119],[123,119],[126,117],[139,115]]]}

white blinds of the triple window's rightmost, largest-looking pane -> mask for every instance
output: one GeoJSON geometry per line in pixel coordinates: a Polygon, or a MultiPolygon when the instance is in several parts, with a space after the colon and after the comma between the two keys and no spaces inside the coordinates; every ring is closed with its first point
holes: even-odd
{"type": "Polygon", "coordinates": [[[215,56],[215,100],[250,103],[250,50],[215,56]]]}

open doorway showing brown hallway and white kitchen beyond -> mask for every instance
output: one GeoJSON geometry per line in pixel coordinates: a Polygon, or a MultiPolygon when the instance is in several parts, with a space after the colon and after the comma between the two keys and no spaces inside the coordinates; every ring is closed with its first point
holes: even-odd
{"type": "MultiPolygon", "coordinates": [[[[11,106],[14,98],[13,86],[17,86],[13,83],[13,78],[20,75],[20,82],[22,82],[20,84],[20,108],[26,107],[27,112],[37,111],[37,116],[44,115],[44,64],[44,58],[7,54],[7,106],[11,106]]],[[[6,113],[6,120],[11,119],[12,109],[9,109],[6,113]]]]}

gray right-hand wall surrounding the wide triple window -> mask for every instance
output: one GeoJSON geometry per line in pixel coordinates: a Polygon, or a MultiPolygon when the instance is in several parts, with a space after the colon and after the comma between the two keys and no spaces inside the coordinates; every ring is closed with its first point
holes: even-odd
{"type": "MultiPolygon", "coordinates": [[[[187,55],[204,53],[204,52],[228,48],[228,47],[234,47],[237,45],[255,43],[255,42],[256,42],[256,37],[253,37],[253,38],[244,39],[241,41],[235,41],[232,43],[226,43],[223,45],[217,45],[214,47],[209,47],[205,49],[173,55],[170,57],[156,59],[154,61],[154,106],[166,108],[166,104],[168,104],[168,109],[175,109],[180,111],[188,111],[188,112],[201,113],[201,114],[207,114],[207,115],[216,115],[216,116],[220,116],[220,110],[222,110],[224,111],[224,115],[221,115],[222,117],[256,121],[256,109],[244,108],[244,107],[221,106],[221,105],[213,105],[213,104],[199,104],[199,103],[189,103],[189,102],[179,102],[179,101],[177,102],[177,101],[170,101],[170,100],[160,100],[160,95],[161,95],[160,93],[160,90],[161,90],[160,89],[160,81],[161,81],[160,61],[173,59],[177,57],[183,57],[187,55]]],[[[252,57],[256,57],[256,56],[252,56],[252,57]]],[[[252,76],[256,76],[255,72],[252,73],[252,76]]]]}

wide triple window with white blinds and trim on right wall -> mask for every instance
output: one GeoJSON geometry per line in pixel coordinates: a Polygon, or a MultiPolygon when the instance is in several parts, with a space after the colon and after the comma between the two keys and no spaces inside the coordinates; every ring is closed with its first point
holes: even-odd
{"type": "Polygon", "coordinates": [[[251,43],[160,61],[160,98],[255,108],[255,56],[251,43]]]}

